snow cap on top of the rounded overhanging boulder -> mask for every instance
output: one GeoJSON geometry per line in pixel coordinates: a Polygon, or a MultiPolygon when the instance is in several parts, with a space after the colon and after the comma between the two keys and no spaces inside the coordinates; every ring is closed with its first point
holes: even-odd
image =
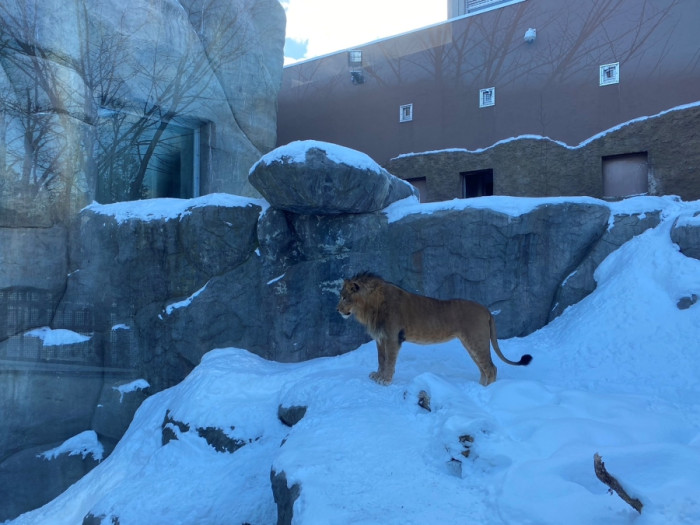
{"type": "Polygon", "coordinates": [[[279,148],[272,150],[270,153],[263,155],[260,160],[256,162],[252,168],[250,168],[250,173],[253,173],[259,164],[269,166],[273,162],[290,164],[300,164],[306,162],[306,153],[312,148],[325,151],[326,156],[332,162],[337,164],[345,164],[347,166],[353,166],[362,170],[382,173],[382,167],[372,160],[372,158],[366,153],[362,153],[361,151],[351,148],[346,148],[345,146],[340,146],[338,144],[321,142],[318,140],[296,140],[285,146],[280,146],[279,148]]]}

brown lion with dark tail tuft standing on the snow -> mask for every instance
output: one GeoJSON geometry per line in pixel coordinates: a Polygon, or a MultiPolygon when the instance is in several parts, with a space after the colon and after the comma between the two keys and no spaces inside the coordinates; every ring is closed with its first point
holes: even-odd
{"type": "Polygon", "coordinates": [[[503,355],[498,347],[496,322],[485,306],[462,299],[442,301],[412,294],[371,273],[343,281],[338,312],[346,319],[354,315],[376,341],[379,368],[369,377],[380,385],[391,384],[404,341],[430,344],[458,338],[479,367],[479,383],[484,386],[496,380],[489,343],[509,365],[526,366],[532,361],[529,354],[517,362],[503,355]]]}

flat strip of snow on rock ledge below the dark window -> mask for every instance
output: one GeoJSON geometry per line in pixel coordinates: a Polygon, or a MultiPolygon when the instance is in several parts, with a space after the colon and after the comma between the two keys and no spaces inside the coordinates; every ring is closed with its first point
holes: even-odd
{"type": "Polygon", "coordinates": [[[267,209],[268,203],[263,199],[253,199],[229,195],[227,193],[210,193],[194,199],[144,199],[140,201],[116,202],[114,204],[98,204],[93,202],[85,209],[100,215],[114,217],[118,224],[130,219],[171,220],[180,219],[191,213],[193,208],[204,206],[225,206],[230,208],[244,208],[256,205],[267,209]]]}

